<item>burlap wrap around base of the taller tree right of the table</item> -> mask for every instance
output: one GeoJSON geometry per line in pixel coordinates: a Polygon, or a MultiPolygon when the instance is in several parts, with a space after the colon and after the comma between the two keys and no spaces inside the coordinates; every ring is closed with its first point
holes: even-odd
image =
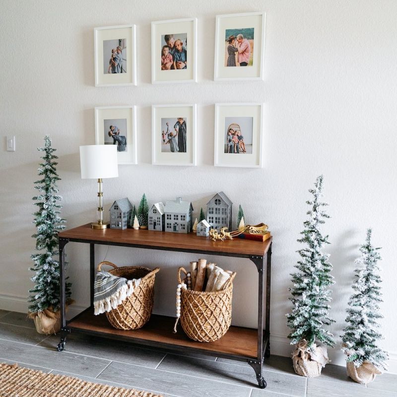
{"type": "Polygon", "coordinates": [[[292,353],[292,362],[298,375],[316,378],[329,362],[327,348],[314,345],[314,353],[310,353],[306,340],[303,340],[296,345],[296,350],[292,353]]]}

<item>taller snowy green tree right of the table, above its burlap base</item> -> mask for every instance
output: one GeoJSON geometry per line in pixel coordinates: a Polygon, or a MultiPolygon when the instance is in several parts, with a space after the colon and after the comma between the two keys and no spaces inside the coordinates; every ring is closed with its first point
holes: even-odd
{"type": "Polygon", "coordinates": [[[305,340],[309,352],[313,351],[316,341],[328,346],[335,343],[331,332],[324,327],[333,322],[329,317],[331,290],[328,287],[334,281],[329,255],[322,252],[324,244],[330,244],[328,235],[323,235],[319,229],[325,223],[324,219],[330,217],[323,209],[328,204],[321,200],[322,190],[321,175],[316,179],[314,189],[309,190],[313,199],[306,201],[310,206],[307,212],[309,219],[304,222],[305,229],[301,232],[302,238],[298,240],[306,247],[298,251],[301,256],[301,260],[295,265],[298,271],[291,274],[294,286],[290,288],[290,300],[294,307],[287,314],[291,344],[305,340]]]}

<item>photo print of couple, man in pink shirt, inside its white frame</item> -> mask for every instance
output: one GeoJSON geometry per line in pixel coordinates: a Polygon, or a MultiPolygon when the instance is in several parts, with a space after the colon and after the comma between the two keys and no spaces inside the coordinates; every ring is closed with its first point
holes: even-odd
{"type": "Polygon", "coordinates": [[[225,66],[253,66],[254,28],[225,30],[225,66]]]}

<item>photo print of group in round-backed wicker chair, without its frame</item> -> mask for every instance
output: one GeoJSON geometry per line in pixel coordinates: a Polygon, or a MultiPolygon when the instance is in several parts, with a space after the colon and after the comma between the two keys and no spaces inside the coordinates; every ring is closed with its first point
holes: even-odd
{"type": "Polygon", "coordinates": [[[253,117],[225,117],[225,153],[252,154],[253,117]]]}

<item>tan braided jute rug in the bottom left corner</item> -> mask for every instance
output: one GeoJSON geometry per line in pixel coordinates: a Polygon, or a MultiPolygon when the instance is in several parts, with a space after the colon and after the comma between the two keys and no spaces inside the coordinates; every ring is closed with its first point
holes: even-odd
{"type": "Polygon", "coordinates": [[[1,397],[162,397],[157,394],[44,374],[16,364],[0,364],[1,397]]]}

